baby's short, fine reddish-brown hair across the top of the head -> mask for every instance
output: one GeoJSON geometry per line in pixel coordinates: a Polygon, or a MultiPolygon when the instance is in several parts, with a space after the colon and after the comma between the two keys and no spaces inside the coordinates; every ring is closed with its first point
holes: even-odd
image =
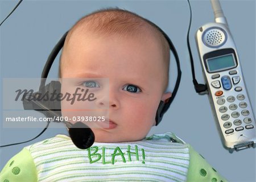
{"type": "MultiPolygon", "coordinates": [[[[159,40],[160,46],[162,46],[161,51],[164,63],[163,72],[165,72],[166,75],[164,91],[166,90],[169,77],[170,47],[166,38],[164,38],[164,35],[159,31],[159,28],[156,27],[154,23],[151,23],[147,19],[144,19],[143,17],[127,10],[118,8],[97,10],[82,17],[76,22],[76,24],[68,32],[67,38],[65,39],[64,48],[65,45],[68,44],[69,39],[71,39],[73,32],[77,31],[78,29],[84,32],[98,33],[101,36],[154,36],[156,40],[159,40]],[[149,32],[149,34],[145,34],[145,32],[149,32]]],[[[60,56],[59,78],[61,78],[62,66],[60,56]]]]}

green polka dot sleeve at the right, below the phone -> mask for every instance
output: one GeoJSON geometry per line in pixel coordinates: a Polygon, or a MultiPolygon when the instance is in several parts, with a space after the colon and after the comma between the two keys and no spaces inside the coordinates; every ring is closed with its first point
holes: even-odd
{"type": "Polygon", "coordinates": [[[187,181],[200,182],[225,182],[224,177],[214,169],[207,161],[189,146],[189,167],[187,181]]]}

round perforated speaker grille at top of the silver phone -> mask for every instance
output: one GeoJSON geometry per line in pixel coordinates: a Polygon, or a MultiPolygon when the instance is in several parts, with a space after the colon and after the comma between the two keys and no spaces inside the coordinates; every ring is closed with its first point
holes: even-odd
{"type": "Polygon", "coordinates": [[[210,28],[205,31],[203,42],[208,47],[220,47],[226,42],[226,32],[219,28],[210,28]]]}

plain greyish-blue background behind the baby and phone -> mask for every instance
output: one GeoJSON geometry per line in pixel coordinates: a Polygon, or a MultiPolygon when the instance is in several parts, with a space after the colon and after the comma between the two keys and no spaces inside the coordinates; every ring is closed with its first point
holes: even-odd
{"type": "MultiPolygon", "coordinates": [[[[18,1],[0,1],[1,20],[16,3],[18,1]]],[[[255,1],[221,1],[221,5],[236,42],[255,113],[255,1]]],[[[181,61],[183,75],[179,92],[162,123],[153,127],[148,135],[172,131],[190,143],[229,181],[255,181],[255,149],[229,154],[222,147],[208,97],[199,96],[193,89],[186,44],[189,23],[187,1],[23,1],[0,28],[1,78],[40,77],[49,52],[65,31],[85,14],[116,6],[133,11],[161,27],[172,39],[181,61]]],[[[204,82],[194,35],[201,25],[212,22],[214,15],[210,1],[191,1],[191,6],[190,40],[196,77],[197,81],[204,82]]],[[[57,77],[58,63],[59,59],[53,64],[49,77],[57,77]]],[[[171,67],[176,69],[175,64],[171,67]]],[[[42,129],[0,127],[0,130],[1,144],[7,144],[34,138],[42,129]]],[[[0,169],[24,146],[59,133],[67,132],[64,128],[48,129],[30,143],[1,148],[0,169]]]]}

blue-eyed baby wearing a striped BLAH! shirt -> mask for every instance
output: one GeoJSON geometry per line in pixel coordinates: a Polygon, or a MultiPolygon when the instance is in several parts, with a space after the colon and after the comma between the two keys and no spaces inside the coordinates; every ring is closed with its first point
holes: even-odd
{"type": "Polygon", "coordinates": [[[80,19],[65,39],[59,76],[109,78],[108,100],[96,101],[108,107],[109,125],[92,127],[95,142],[86,150],[66,135],[23,148],[0,181],[226,181],[174,134],[146,137],[159,102],[171,97],[169,64],[166,39],[141,16],[107,9],[80,19]]]}

